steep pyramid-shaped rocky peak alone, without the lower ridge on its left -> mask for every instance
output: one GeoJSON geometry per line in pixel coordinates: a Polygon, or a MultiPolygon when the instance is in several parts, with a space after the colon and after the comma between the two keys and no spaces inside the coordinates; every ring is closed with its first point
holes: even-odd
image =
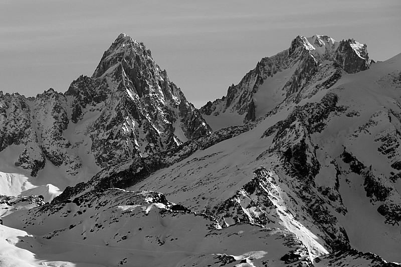
{"type": "MultiPolygon", "coordinates": [[[[120,136],[129,141],[122,147],[130,157],[148,156],[210,133],[202,116],[169,81],[166,71],[154,62],[145,45],[125,34],[120,34],[104,52],[91,79],[106,84],[105,97],[99,99],[109,99],[118,112],[104,114],[102,124],[114,116],[113,125],[109,126],[114,127],[112,136],[119,142],[115,132],[124,129],[120,136]]],[[[91,92],[99,91],[94,87],[91,92]]],[[[96,151],[96,160],[105,166],[110,159],[117,158],[113,152],[115,145],[108,137],[110,147],[104,149],[103,133],[96,134],[92,134],[93,144],[102,144],[96,151]]]]}

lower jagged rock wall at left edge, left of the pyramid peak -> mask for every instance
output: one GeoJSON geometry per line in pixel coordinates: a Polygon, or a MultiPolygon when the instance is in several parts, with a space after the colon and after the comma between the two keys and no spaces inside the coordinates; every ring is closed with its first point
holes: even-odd
{"type": "Polygon", "coordinates": [[[55,166],[64,166],[75,175],[80,159],[70,153],[71,143],[63,136],[67,129],[67,100],[53,89],[26,99],[19,94],[0,95],[2,101],[2,147],[25,145],[16,166],[31,170],[36,176],[46,159],[55,166]]]}

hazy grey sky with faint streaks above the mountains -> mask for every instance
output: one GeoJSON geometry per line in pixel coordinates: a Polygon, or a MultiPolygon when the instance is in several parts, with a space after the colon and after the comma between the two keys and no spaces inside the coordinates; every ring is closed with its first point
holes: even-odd
{"type": "Polygon", "coordinates": [[[65,92],[125,33],[200,108],[298,35],[353,38],[389,59],[401,53],[400,14],[399,0],[1,0],[0,90],[65,92]]]}

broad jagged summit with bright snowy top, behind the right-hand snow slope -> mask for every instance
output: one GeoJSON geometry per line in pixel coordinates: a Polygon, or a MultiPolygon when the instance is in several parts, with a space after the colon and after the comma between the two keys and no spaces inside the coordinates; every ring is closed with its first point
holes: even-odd
{"type": "Polygon", "coordinates": [[[309,98],[319,90],[333,86],[341,77],[341,71],[357,73],[369,66],[366,45],[353,39],[336,42],[328,36],[298,36],[289,49],[263,58],[238,85],[229,87],[226,97],[208,102],[200,113],[214,116],[226,112],[246,114],[244,122],[251,121],[254,120],[251,114],[263,116],[283,100],[298,103],[304,97],[309,98]],[[286,76],[282,77],[280,73],[286,73],[286,76]],[[272,83],[274,79],[284,82],[272,83]],[[260,95],[267,96],[269,103],[261,102],[260,95]]]}

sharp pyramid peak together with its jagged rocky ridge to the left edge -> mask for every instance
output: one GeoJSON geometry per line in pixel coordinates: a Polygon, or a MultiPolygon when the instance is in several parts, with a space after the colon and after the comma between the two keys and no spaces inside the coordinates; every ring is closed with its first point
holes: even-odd
{"type": "Polygon", "coordinates": [[[103,168],[211,132],[150,51],[124,34],[104,53],[93,76],[79,77],[65,94],[50,89],[26,99],[2,93],[0,101],[0,150],[25,145],[15,165],[32,176],[46,160],[76,175],[84,140],[90,144],[85,153],[103,168]]]}

